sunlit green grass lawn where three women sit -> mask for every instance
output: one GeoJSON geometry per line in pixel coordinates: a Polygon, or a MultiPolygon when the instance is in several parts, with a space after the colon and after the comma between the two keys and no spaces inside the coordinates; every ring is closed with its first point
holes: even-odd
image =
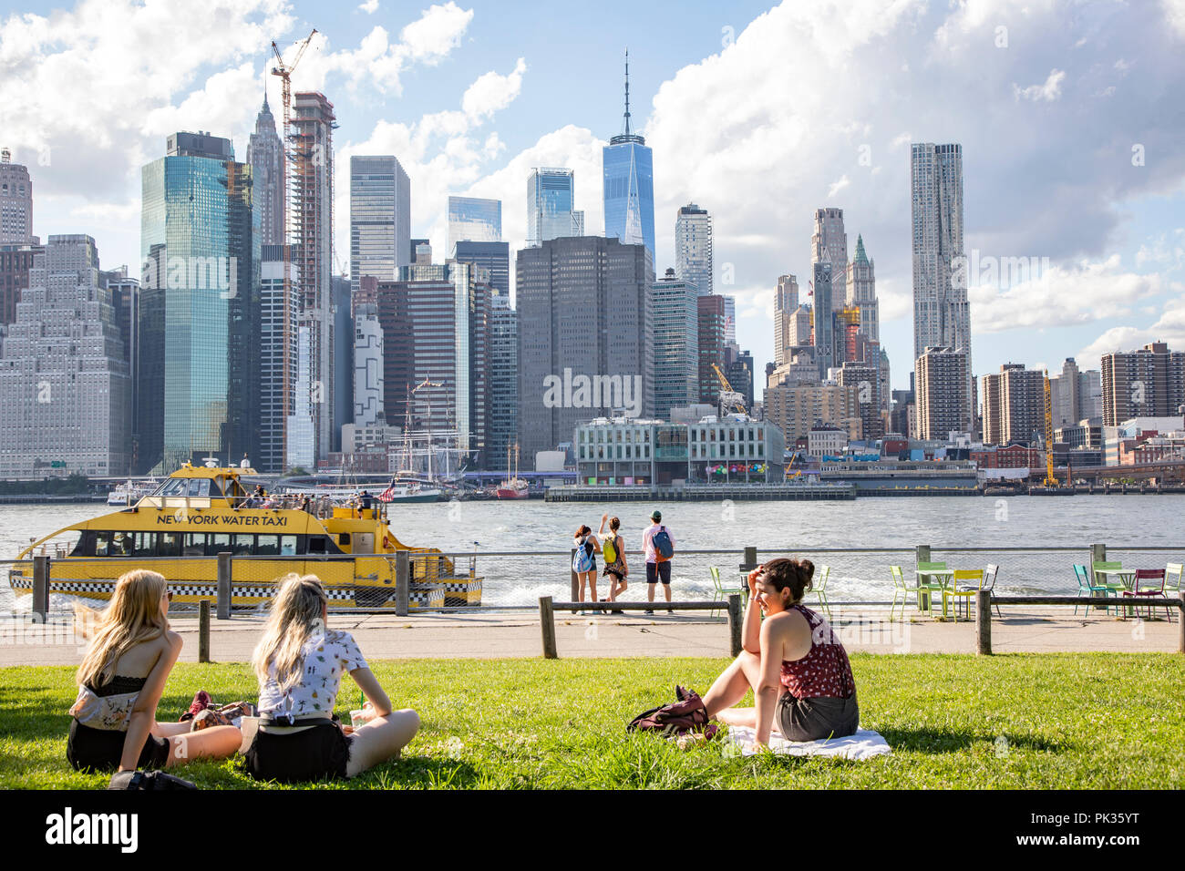
{"type": "MultiPolygon", "coordinates": [[[[679,750],[628,735],[634,715],[705,692],[724,659],[372,662],[423,725],[403,760],[333,788],[1173,788],[1185,786],[1185,657],[1013,654],[852,657],[864,728],[893,748],[865,762],[679,750]],[[1003,741],[1000,737],[1003,736],[1003,741]]],[[[65,760],[69,667],[0,668],[0,787],[98,788],[65,760]]],[[[180,664],[158,716],[194,691],[256,696],[245,664],[180,664]]],[[[358,691],[344,681],[348,719],[358,691]]],[[[749,702],[748,704],[751,704],[749,702]]],[[[235,760],[178,770],[206,788],[267,788],[235,760]]],[[[275,786],[275,784],[273,784],[275,786]]]]}

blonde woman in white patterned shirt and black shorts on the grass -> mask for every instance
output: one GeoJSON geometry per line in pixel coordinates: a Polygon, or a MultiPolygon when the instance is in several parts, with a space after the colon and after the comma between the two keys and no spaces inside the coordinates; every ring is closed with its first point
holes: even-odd
{"type": "Polygon", "coordinates": [[[244,754],[260,780],[353,777],[399,755],[419,729],[412,710],[391,700],[347,632],[326,628],[328,597],[315,575],[288,575],[251,664],[260,679],[260,726],[244,754]],[[333,716],[341,675],[366,696],[357,729],[333,716]]]}

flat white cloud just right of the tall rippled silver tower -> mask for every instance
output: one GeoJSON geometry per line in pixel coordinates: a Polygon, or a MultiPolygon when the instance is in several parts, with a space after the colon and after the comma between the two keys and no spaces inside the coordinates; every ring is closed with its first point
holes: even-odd
{"type": "Polygon", "coordinates": [[[1006,290],[972,287],[967,296],[975,333],[1114,320],[1167,289],[1159,275],[1123,271],[1117,254],[1102,262],[1052,265],[1039,271],[1006,290]]]}

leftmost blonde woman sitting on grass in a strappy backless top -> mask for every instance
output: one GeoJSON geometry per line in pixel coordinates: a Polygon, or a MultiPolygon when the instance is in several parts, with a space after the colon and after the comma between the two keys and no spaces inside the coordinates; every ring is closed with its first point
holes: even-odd
{"type": "Polygon", "coordinates": [[[78,609],[90,649],[78,667],[70,709],[66,758],[79,770],[172,768],[198,758],[226,758],[242,735],[232,725],[190,732],[188,723],[158,723],[156,705],[181,652],[168,628],[172,597],[165,578],[137,569],[115,584],[107,609],[78,609]]]}

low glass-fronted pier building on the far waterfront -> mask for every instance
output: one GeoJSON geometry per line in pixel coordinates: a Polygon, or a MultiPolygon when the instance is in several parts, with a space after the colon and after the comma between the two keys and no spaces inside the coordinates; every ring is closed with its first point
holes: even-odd
{"type": "Polygon", "coordinates": [[[779,482],[786,442],[769,421],[741,415],[692,423],[596,418],[575,433],[577,480],[587,485],[779,482]]]}

